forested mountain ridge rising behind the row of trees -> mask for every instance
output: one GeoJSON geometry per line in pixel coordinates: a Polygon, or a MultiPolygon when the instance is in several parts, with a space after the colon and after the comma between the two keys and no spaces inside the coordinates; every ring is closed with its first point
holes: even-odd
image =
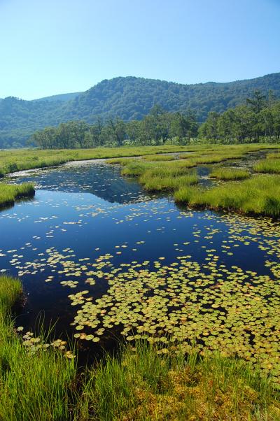
{"type": "Polygon", "coordinates": [[[141,119],[155,104],[169,111],[195,110],[197,120],[242,104],[254,90],[272,90],[280,97],[280,73],[229,83],[183,85],[132,76],[103,80],[80,94],[62,94],[35,101],[8,97],[0,101],[0,148],[20,146],[31,133],[69,120],[94,122],[97,116],[141,119]],[[68,97],[67,97],[68,96],[68,97]]]}

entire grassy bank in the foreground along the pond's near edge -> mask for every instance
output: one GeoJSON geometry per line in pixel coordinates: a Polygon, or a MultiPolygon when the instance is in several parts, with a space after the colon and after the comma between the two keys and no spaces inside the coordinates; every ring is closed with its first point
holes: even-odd
{"type": "MultiPolygon", "coordinates": [[[[218,353],[186,356],[136,341],[105,355],[82,376],[62,352],[36,344],[30,352],[15,332],[10,307],[19,280],[0,277],[0,419],[276,420],[279,392],[241,359],[218,353]]],[[[166,345],[165,345],[166,346],[166,345]]]]}

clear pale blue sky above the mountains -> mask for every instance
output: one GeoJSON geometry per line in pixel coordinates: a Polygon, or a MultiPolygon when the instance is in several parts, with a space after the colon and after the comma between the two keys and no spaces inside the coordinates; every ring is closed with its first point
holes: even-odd
{"type": "Polygon", "coordinates": [[[280,71],[280,0],[0,0],[0,98],[280,71]]]}

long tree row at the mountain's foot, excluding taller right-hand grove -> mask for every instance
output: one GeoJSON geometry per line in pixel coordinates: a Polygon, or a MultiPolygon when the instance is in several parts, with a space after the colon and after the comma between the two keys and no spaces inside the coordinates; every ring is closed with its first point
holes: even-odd
{"type": "Polygon", "coordinates": [[[100,146],[162,145],[167,139],[184,145],[196,138],[198,124],[194,113],[167,113],[156,105],[143,120],[125,122],[120,118],[104,121],[97,118],[94,124],[70,121],[58,127],[45,127],[30,138],[30,145],[42,149],[97,148],[100,146]]]}

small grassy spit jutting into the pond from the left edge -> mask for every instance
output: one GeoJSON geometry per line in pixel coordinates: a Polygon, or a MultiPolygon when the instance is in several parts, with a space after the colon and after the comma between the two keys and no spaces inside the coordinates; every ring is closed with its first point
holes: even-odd
{"type": "Polygon", "coordinates": [[[3,184],[0,183],[0,208],[12,206],[16,200],[33,197],[34,185],[31,183],[3,184]]]}

